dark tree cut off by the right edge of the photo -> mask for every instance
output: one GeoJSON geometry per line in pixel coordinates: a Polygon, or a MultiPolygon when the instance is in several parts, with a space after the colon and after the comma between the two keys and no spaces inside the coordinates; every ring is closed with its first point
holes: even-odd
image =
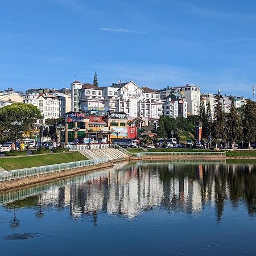
{"type": "Polygon", "coordinates": [[[256,139],[256,103],[248,101],[243,108],[243,135],[245,141],[249,143],[256,139]]]}

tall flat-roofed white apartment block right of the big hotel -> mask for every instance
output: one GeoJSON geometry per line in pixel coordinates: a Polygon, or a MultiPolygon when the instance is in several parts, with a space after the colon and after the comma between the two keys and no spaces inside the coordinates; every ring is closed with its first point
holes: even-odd
{"type": "Polygon", "coordinates": [[[172,89],[184,94],[188,102],[188,115],[199,115],[200,87],[198,85],[187,84],[185,86],[173,87],[172,89]]]}

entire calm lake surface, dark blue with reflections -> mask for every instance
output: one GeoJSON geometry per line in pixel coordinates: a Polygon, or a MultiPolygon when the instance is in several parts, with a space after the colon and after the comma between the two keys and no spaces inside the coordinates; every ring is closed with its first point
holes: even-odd
{"type": "Polygon", "coordinates": [[[256,255],[256,161],[120,163],[0,193],[1,255],[256,255]]]}

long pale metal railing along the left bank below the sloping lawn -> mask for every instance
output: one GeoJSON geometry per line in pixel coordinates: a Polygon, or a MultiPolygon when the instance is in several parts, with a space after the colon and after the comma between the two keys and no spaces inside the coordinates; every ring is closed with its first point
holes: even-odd
{"type": "Polygon", "coordinates": [[[98,158],[83,160],[77,162],[61,163],[61,164],[52,164],[50,166],[39,166],[32,167],[27,169],[12,170],[12,171],[2,171],[0,172],[0,181],[20,179],[22,177],[50,174],[52,172],[69,170],[74,168],[80,168],[85,166],[92,166],[93,164],[107,163],[107,158],[98,158]]]}

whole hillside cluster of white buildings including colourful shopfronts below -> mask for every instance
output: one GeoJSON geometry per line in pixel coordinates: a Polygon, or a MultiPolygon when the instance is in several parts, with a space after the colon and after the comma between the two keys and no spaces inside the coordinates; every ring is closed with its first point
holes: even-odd
{"type": "MultiPolygon", "coordinates": [[[[218,94],[225,113],[229,112],[232,98],[236,108],[246,104],[242,97],[218,94]]],[[[140,87],[133,81],[119,81],[104,87],[74,81],[70,88],[58,90],[39,88],[17,92],[8,88],[0,92],[0,108],[14,102],[33,104],[42,113],[44,121],[65,118],[65,141],[86,138],[88,135],[99,137],[97,134],[100,134],[104,142],[108,141],[108,134],[112,134],[110,138],[118,135],[119,138],[130,138],[129,127],[135,122],[137,126],[139,123],[140,127],[155,129],[162,114],[173,118],[198,115],[202,99],[205,109],[210,105],[213,116],[216,96],[201,93],[200,87],[192,84],[155,90],[140,87]]]]}

